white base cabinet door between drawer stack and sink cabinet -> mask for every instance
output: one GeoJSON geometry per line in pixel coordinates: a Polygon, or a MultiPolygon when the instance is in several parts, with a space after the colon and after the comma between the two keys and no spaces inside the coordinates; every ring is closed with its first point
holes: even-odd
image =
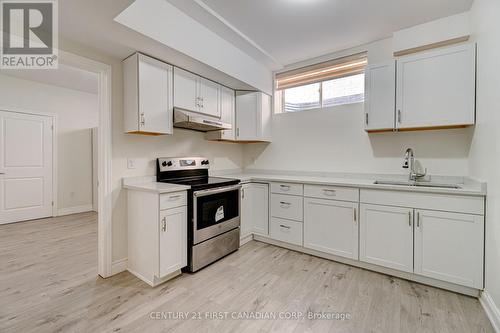
{"type": "Polygon", "coordinates": [[[304,247],[358,259],[358,204],[306,198],[304,247]]]}

